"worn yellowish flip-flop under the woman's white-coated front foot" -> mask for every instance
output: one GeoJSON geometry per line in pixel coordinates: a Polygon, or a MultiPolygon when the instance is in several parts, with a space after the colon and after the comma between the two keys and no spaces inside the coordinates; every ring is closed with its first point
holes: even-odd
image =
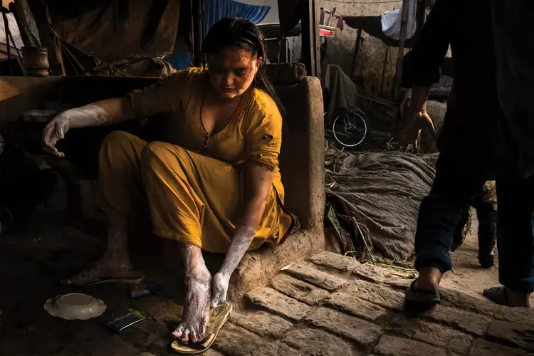
{"type": "Polygon", "coordinates": [[[197,355],[204,352],[213,345],[217,334],[222,326],[230,318],[232,306],[230,303],[222,303],[209,311],[209,321],[206,328],[206,337],[198,342],[184,344],[181,340],[174,340],[171,344],[172,350],[183,355],[197,355]]]}

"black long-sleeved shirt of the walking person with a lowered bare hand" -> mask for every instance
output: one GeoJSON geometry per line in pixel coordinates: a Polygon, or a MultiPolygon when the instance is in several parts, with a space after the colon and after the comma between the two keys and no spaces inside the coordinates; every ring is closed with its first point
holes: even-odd
{"type": "Polygon", "coordinates": [[[439,80],[449,45],[454,84],[438,148],[455,155],[466,174],[493,179],[508,169],[513,148],[498,105],[488,0],[436,0],[411,53],[414,84],[430,86],[439,80]]]}

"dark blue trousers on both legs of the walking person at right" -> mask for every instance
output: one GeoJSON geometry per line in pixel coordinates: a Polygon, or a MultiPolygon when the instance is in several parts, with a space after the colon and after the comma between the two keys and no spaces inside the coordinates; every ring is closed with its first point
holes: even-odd
{"type": "MultiPolygon", "coordinates": [[[[419,207],[415,268],[451,270],[452,236],[461,211],[486,182],[454,157],[440,155],[436,178],[419,207]]],[[[534,292],[534,177],[496,181],[499,282],[515,292],[534,292]]]]}

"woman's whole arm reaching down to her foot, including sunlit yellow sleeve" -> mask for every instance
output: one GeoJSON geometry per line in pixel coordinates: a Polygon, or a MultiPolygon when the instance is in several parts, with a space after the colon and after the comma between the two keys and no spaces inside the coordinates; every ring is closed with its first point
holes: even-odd
{"type": "Polygon", "coordinates": [[[269,100],[258,105],[249,117],[245,134],[249,157],[245,169],[244,207],[237,221],[224,263],[211,286],[211,305],[226,300],[230,276],[248,250],[261,224],[266,201],[273,187],[274,172],[282,144],[282,117],[276,104],[269,100]]]}

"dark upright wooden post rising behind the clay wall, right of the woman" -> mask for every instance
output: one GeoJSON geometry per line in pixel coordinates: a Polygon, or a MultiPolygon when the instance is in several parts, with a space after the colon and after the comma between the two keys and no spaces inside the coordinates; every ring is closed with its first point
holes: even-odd
{"type": "Polygon", "coordinates": [[[320,78],[319,7],[317,0],[302,0],[302,58],[308,75],[320,78]]]}

